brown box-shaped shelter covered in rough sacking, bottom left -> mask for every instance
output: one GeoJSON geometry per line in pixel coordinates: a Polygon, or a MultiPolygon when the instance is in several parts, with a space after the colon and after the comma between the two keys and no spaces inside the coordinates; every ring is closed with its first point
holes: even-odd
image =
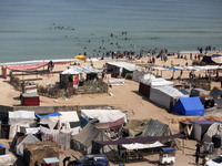
{"type": "Polygon", "coordinates": [[[59,145],[53,142],[37,142],[24,144],[23,163],[33,166],[34,162],[43,163],[43,158],[59,158],[59,145]]]}

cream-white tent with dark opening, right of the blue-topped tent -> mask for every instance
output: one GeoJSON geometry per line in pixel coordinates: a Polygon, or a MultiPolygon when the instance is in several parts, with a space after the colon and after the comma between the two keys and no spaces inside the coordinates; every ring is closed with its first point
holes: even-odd
{"type": "Polygon", "coordinates": [[[80,120],[75,111],[69,111],[69,112],[65,111],[59,113],[61,114],[59,116],[59,126],[58,126],[59,129],[61,127],[68,129],[80,126],[80,120]]]}

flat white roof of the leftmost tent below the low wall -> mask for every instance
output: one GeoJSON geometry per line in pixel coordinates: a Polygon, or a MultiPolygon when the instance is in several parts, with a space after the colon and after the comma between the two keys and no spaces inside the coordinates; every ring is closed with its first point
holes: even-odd
{"type": "Polygon", "coordinates": [[[9,112],[9,118],[37,118],[33,111],[9,112]]]}

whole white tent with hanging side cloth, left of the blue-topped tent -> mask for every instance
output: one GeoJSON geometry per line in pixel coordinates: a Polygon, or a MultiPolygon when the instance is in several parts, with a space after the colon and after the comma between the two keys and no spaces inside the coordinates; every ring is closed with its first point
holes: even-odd
{"type": "Polygon", "coordinates": [[[36,124],[36,118],[33,111],[9,112],[9,138],[13,138],[16,133],[20,132],[21,126],[30,127],[32,124],[36,124]]]}

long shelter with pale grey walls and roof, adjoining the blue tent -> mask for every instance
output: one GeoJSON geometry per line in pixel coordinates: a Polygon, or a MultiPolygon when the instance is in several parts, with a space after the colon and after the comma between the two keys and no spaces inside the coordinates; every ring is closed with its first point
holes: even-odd
{"type": "Polygon", "coordinates": [[[181,97],[188,97],[188,95],[171,86],[150,89],[150,101],[165,106],[170,111],[173,110],[174,103],[181,97]]]}

